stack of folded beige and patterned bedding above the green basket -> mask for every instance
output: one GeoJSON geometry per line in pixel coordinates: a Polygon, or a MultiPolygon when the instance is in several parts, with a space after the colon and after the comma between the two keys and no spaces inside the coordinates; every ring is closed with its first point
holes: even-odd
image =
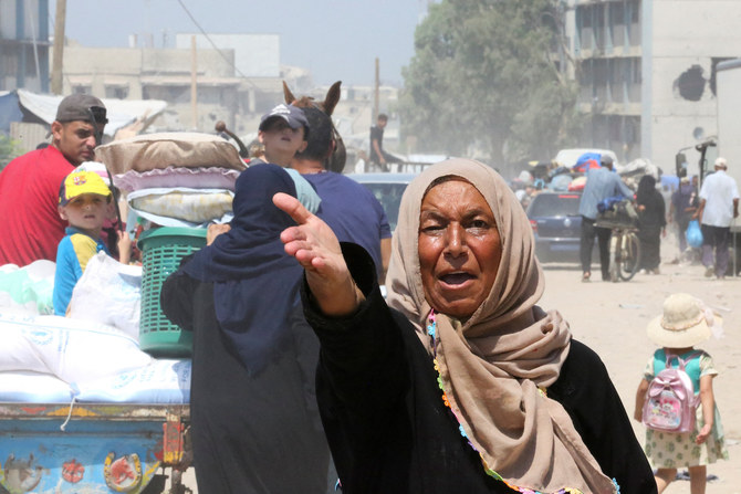
{"type": "Polygon", "coordinates": [[[97,147],[95,157],[124,193],[128,222],[138,217],[161,227],[229,221],[234,182],[246,168],[230,143],[198,133],[115,140],[97,147]]]}

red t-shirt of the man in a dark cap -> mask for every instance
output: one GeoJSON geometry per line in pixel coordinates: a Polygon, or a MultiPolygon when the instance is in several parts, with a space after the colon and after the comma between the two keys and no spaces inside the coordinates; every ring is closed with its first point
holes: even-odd
{"type": "Polygon", "coordinates": [[[0,172],[0,265],[56,260],[66,221],[56,210],[74,166],[53,146],[19,156],[0,172]]]}

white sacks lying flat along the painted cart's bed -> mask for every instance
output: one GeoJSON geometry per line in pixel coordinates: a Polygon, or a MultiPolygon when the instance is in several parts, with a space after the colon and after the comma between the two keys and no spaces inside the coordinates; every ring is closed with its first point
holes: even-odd
{"type": "Polygon", "coordinates": [[[0,402],[189,402],[190,360],[153,359],[115,327],[0,313],[0,402]]]}

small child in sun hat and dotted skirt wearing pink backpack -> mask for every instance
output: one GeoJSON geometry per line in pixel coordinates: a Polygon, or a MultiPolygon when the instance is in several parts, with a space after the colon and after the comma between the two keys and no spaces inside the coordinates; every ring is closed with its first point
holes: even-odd
{"type": "Polygon", "coordinates": [[[656,469],[659,494],[689,469],[691,494],[703,494],[707,465],[728,460],[723,428],[712,392],[718,375],[712,357],[695,345],[721,335],[722,320],[691,295],[664,302],[664,314],[647,327],[661,346],[648,360],[636,392],[634,417],[646,425],[646,455],[656,469]]]}

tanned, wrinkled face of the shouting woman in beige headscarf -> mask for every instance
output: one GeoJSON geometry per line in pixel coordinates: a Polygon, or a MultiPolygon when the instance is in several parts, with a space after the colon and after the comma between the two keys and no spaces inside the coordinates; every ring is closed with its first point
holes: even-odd
{"type": "Polygon", "coordinates": [[[427,302],[466,318],[494,284],[502,245],[486,199],[461,179],[432,187],[419,212],[419,265],[427,302]]]}

